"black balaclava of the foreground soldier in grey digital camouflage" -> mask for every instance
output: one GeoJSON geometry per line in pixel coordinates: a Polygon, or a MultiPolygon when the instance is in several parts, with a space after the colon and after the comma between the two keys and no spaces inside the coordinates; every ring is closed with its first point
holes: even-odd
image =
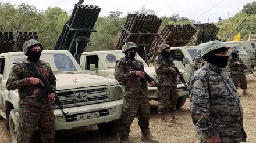
{"type": "Polygon", "coordinates": [[[208,53],[204,56],[205,60],[208,61],[211,64],[214,64],[218,67],[225,68],[227,66],[227,62],[229,60],[229,56],[217,56],[215,54],[218,54],[220,52],[226,51],[226,47],[222,47],[220,49],[216,49],[212,51],[211,53],[208,53]]]}

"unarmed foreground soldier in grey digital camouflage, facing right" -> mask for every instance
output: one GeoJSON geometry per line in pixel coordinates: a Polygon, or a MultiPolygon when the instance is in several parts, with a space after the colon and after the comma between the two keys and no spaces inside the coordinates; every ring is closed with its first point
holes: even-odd
{"type": "Polygon", "coordinates": [[[191,115],[200,143],[246,142],[236,87],[222,71],[229,59],[227,50],[221,41],[205,43],[205,66],[195,71],[188,82],[191,115]]]}

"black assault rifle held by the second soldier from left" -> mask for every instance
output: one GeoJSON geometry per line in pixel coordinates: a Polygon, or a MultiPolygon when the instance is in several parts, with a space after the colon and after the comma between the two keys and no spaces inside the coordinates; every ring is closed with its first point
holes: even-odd
{"type": "MultiPolygon", "coordinates": [[[[137,67],[137,65],[134,64],[133,61],[131,61],[130,59],[129,59],[126,63],[129,64],[129,65],[130,65],[131,67],[133,67],[134,69],[136,69],[137,71],[142,71],[142,72],[145,73],[145,77],[144,77],[143,83],[142,83],[142,86],[143,86],[144,88],[147,87],[147,81],[148,81],[148,82],[152,82],[152,81],[155,82],[155,80],[154,80],[153,78],[151,78],[151,76],[148,75],[147,72],[145,72],[143,69],[140,69],[139,67],[137,67]]],[[[161,93],[163,93],[163,95],[167,96],[167,95],[162,91],[161,87],[157,84],[157,82],[155,82],[155,87],[157,87],[157,89],[158,89],[159,91],[161,91],[161,93]]]]}

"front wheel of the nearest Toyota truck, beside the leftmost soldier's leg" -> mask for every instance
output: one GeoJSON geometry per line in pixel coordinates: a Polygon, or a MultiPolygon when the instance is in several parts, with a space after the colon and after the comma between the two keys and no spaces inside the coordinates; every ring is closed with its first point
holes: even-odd
{"type": "Polygon", "coordinates": [[[18,119],[17,116],[15,115],[15,110],[12,109],[10,111],[10,116],[9,116],[9,126],[10,126],[10,138],[12,139],[12,143],[17,143],[18,141],[18,119]]]}

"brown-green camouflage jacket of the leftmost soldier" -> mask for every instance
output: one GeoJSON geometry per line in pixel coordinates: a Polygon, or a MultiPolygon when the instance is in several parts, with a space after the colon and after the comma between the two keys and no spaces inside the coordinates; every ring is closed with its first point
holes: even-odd
{"type": "MultiPolygon", "coordinates": [[[[30,63],[30,61],[26,60],[25,58],[19,63],[14,63],[15,65],[10,71],[9,78],[6,82],[6,89],[18,89],[20,98],[33,98],[36,97],[40,92],[41,85],[32,85],[29,82],[30,77],[37,76],[35,76],[34,72],[26,66],[26,63],[30,63]]],[[[47,77],[52,88],[56,90],[56,78],[49,63],[45,63],[44,61],[40,60],[35,63],[35,66],[42,76],[47,77]]]]}

